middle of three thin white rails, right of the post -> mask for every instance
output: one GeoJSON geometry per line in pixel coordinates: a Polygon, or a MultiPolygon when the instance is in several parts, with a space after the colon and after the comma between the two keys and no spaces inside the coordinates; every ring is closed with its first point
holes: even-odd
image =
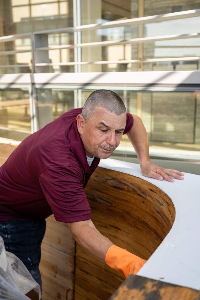
{"type": "Polygon", "coordinates": [[[200,32],[198,33],[187,33],[182,35],[162,35],[157,37],[148,38],[132,38],[127,40],[114,40],[114,41],[103,41],[103,42],[92,42],[92,43],[81,43],[81,44],[70,44],[52,47],[38,47],[35,51],[46,51],[46,50],[56,50],[56,49],[71,49],[77,47],[94,47],[94,46],[112,46],[112,45],[126,45],[133,43],[145,43],[145,42],[155,42],[155,41],[168,41],[168,40],[180,40],[185,38],[199,38],[200,32]]]}

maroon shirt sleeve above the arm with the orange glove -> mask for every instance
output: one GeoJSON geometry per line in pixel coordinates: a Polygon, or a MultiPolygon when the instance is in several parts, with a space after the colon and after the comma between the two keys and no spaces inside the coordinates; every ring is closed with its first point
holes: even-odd
{"type": "Polygon", "coordinates": [[[39,178],[56,221],[72,223],[91,219],[82,175],[69,167],[47,168],[39,178]]]}

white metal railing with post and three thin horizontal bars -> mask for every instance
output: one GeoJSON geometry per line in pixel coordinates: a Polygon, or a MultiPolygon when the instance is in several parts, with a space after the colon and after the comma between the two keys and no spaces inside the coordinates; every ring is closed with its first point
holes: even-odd
{"type": "Polygon", "coordinates": [[[150,62],[166,62],[166,61],[199,61],[200,57],[173,57],[173,58],[150,58],[150,59],[131,59],[131,60],[109,60],[109,61],[81,61],[80,56],[75,55],[74,62],[61,62],[61,63],[51,63],[49,62],[49,50],[55,49],[80,49],[83,47],[95,47],[95,46],[112,46],[112,45],[126,45],[126,44],[138,44],[147,43],[155,41],[169,41],[169,40],[179,40],[179,39],[190,39],[199,38],[200,33],[186,33],[181,35],[164,35],[164,36],[154,36],[145,38],[132,38],[126,40],[114,40],[114,41],[101,41],[101,42],[91,42],[91,43],[78,43],[77,39],[74,38],[74,44],[64,44],[60,46],[49,46],[48,35],[61,34],[61,33],[74,33],[91,31],[97,29],[114,28],[121,26],[135,26],[140,24],[152,23],[152,22],[163,22],[169,20],[185,19],[200,16],[200,9],[197,10],[187,10],[177,13],[167,13],[163,15],[147,16],[135,19],[126,19],[113,22],[105,22],[101,24],[89,24],[84,26],[67,27],[61,29],[44,30],[38,32],[29,32],[26,34],[17,34],[0,37],[0,43],[14,41],[16,39],[31,38],[31,48],[25,50],[9,50],[2,51],[0,55],[13,55],[17,53],[32,52],[32,64],[12,64],[12,65],[1,65],[0,68],[8,67],[32,67],[32,73],[45,72],[42,67],[48,66],[79,66],[87,64],[124,64],[124,63],[150,63],[150,62]]]}

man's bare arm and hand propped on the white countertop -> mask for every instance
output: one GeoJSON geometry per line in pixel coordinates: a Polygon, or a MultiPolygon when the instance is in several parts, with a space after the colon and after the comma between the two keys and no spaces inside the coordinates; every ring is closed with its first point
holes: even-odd
{"type": "Polygon", "coordinates": [[[174,169],[165,169],[157,165],[151,164],[149,158],[149,140],[147,136],[146,129],[142,123],[142,120],[136,116],[132,115],[134,118],[134,123],[127,136],[132,143],[141,167],[142,174],[147,177],[152,177],[158,180],[166,179],[169,182],[174,182],[172,176],[176,179],[183,179],[183,173],[174,169]]]}

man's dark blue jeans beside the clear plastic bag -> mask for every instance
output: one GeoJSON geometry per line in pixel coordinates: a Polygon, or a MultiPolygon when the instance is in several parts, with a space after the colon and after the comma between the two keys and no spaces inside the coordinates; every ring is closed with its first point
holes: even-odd
{"type": "Polygon", "coordinates": [[[41,290],[40,246],[45,230],[45,220],[0,221],[0,235],[4,240],[5,249],[21,259],[41,290]]]}

